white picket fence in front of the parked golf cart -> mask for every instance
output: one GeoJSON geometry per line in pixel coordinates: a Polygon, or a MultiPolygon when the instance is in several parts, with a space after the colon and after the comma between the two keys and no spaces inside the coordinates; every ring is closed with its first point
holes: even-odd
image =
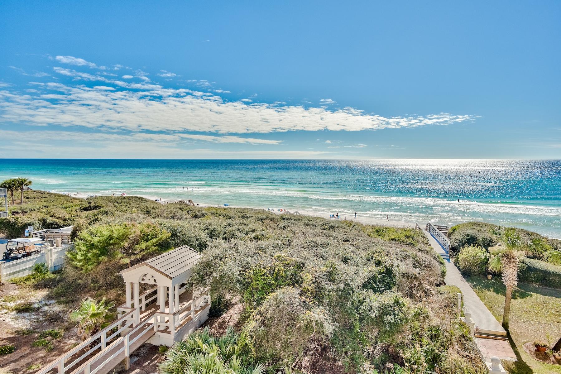
{"type": "Polygon", "coordinates": [[[33,273],[33,266],[35,264],[47,264],[50,271],[59,270],[65,264],[67,247],[50,247],[37,255],[10,262],[0,262],[0,276],[2,277],[0,279],[6,281],[29,275],[33,273]]]}

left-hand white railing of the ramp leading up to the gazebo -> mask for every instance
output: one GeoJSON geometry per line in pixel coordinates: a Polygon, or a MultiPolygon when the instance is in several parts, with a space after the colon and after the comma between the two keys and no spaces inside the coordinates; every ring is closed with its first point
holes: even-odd
{"type": "Polygon", "coordinates": [[[65,374],[66,372],[73,371],[73,367],[76,366],[76,364],[82,361],[82,359],[93,354],[96,350],[99,349],[99,352],[102,352],[103,350],[112,347],[113,344],[117,343],[117,341],[122,338],[113,341],[113,343],[109,345],[107,345],[107,342],[116,338],[117,335],[125,333],[125,330],[128,330],[129,327],[133,326],[136,321],[138,321],[138,311],[133,308],[128,308],[128,313],[119,317],[111,325],[105,327],[105,329],[103,329],[102,331],[99,331],[99,333],[91,336],[89,339],[82,341],[82,343],[76,345],[76,347],[59,356],[57,359],[50,362],[47,366],[41,368],[41,370],[37,371],[35,374],[46,374],[54,368],[58,368],[58,374],[65,374]],[[121,326],[121,324],[123,325],[121,326]],[[117,330],[113,331],[115,329],[117,330]],[[110,335],[107,336],[107,334],[110,335]],[[98,339],[100,342],[95,344],[94,347],[89,348],[90,345],[96,343],[98,339]],[[85,353],[81,354],[76,359],[73,359],[70,363],[67,363],[67,361],[70,361],[70,359],[74,355],[80,354],[82,349],[85,349],[85,353]]]}

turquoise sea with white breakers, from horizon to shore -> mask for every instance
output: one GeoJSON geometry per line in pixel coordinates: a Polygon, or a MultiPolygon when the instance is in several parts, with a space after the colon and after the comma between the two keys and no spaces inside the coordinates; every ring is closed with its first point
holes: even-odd
{"type": "Polygon", "coordinates": [[[561,238],[560,160],[1,161],[0,179],[19,176],[32,179],[33,188],[61,193],[356,211],[448,225],[482,220],[561,238]]]}

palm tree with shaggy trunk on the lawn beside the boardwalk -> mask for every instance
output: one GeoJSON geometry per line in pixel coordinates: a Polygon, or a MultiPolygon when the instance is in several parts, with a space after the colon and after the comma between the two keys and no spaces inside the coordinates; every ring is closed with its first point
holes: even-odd
{"type": "MultiPolygon", "coordinates": [[[[503,284],[507,287],[504,298],[503,328],[508,331],[508,316],[511,312],[512,290],[518,285],[518,267],[520,258],[526,256],[542,256],[551,250],[544,238],[527,241],[514,227],[495,227],[491,230],[499,237],[499,248],[487,264],[491,273],[502,273],[503,284]]],[[[492,253],[493,255],[493,253],[492,253]]]]}

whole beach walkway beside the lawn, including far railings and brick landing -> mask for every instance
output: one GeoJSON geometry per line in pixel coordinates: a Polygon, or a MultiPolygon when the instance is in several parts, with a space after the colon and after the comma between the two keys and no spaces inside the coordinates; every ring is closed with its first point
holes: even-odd
{"type": "Polygon", "coordinates": [[[503,329],[503,326],[499,324],[475,291],[473,291],[470,284],[463,279],[456,265],[450,260],[450,256],[448,255],[448,238],[439,235],[439,230],[431,224],[421,226],[421,224],[418,223],[416,228],[422,230],[429,240],[430,246],[443,258],[446,266],[444,283],[447,285],[454,285],[462,292],[463,312],[464,314],[471,313],[471,318],[473,322],[475,322],[475,343],[485,362],[490,362],[493,356],[509,361],[516,361],[516,355],[507,340],[507,331],[503,329]]]}

